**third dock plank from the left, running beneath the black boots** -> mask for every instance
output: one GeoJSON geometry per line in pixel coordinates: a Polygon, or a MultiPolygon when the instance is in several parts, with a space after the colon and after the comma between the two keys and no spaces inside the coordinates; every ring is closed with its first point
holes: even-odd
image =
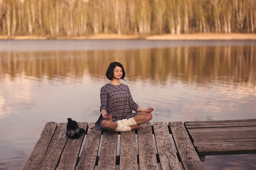
{"type": "MultiPolygon", "coordinates": [[[[80,128],[87,129],[88,123],[79,123],[80,128]]],[[[79,151],[81,149],[85,133],[77,139],[68,138],[66,146],[61,155],[58,170],[74,170],[78,161],[79,151]]]]}

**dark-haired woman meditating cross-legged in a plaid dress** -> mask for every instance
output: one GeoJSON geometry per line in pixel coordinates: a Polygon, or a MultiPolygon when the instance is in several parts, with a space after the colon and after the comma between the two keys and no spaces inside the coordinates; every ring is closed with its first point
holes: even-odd
{"type": "Polygon", "coordinates": [[[153,108],[142,108],[136,104],[131,96],[130,89],[124,80],[125,71],[119,62],[110,63],[106,72],[110,80],[101,88],[101,115],[92,129],[115,132],[125,132],[139,129],[143,124],[152,119],[153,108]],[[132,113],[135,110],[135,113],[132,113]]]}

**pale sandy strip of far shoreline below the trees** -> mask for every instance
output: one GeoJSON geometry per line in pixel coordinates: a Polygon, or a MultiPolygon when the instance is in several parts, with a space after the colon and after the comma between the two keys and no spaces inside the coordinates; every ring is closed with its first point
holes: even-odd
{"type": "Polygon", "coordinates": [[[194,33],[194,34],[164,34],[164,35],[118,35],[118,34],[99,34],[81,37],[58,37],[47,38],[34,35],[14,36],[0,35],[0,40],[256,40],[256,33],[194,33]]]}

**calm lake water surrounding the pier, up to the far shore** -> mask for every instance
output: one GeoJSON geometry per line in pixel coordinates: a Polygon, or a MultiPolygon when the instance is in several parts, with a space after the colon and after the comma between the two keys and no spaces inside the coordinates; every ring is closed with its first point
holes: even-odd
{"type": "MultiPolygon", "coordinates": [[[[95,122],[110,62],[154,121],[256,118],[256,41],[0,40],[0,170],[21,170],[46,122],[95,122]]],[[[256,155],[206,156],[254,170],[256,155]]]]}

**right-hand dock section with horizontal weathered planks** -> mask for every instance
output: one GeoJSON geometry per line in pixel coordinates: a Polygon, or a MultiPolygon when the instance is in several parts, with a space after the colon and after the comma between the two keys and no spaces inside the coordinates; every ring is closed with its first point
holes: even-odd
{"type": "Polygon", "coordinates": [[[198,155],[256,153],[256,119],[185,122],[198,155]]]}

